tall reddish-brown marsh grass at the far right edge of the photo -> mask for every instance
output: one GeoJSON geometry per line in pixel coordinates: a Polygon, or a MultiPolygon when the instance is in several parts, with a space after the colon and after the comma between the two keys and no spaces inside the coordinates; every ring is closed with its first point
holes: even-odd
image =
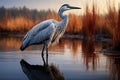
{"type": "Polygon", "coordinates": [[[115,6],[108,5],[106,17],[106,29],[109,31],[114,47],[120,46],[120,8],[117,11],[115,6]]]}

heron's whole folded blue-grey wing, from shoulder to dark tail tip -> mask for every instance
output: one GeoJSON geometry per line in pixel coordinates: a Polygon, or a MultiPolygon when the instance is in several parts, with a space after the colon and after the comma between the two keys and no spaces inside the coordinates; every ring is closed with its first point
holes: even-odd
{"type": "Polygon", "coordinates": [[[44,40],[50,38],[54,31],[53,20],[43,21],[35,25],[24,37],[21,50],[24,50],[27,46],[31,44],[42,43],[44,40]]]}

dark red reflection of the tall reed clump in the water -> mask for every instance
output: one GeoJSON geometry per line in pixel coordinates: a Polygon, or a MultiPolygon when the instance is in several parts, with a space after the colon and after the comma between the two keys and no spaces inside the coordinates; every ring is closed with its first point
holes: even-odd
{"type": "Polygon", "coordinates": [[[94,51],[95,44],[92,40],[82,42],[83,60],[87,70],[90,70],[90,68],[92,70],[96,70],[97,68],[99,56],[95,54],[94,51]]]}

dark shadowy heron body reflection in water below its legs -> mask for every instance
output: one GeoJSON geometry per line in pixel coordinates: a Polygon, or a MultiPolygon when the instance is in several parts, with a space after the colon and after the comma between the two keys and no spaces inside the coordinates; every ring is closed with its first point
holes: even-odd
{"type": "Polygon", "coordinates": [[[53,64],[48,66],[31,65],[23,59],[20,64],[29,80],[64,80],[62,73],[53,64]]]}

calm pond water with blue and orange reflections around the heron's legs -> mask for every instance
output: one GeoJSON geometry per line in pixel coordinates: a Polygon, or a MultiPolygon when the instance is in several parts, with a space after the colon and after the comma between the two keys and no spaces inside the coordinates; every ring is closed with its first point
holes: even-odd
{"type": "MultiPolygon", "coordinates": [[[[43,45],[19,50],[22,37],[0,38],[0,80],[29,80],[20,61],[42,65],[43,45]]],[[[65,80],[119,80],[120,58],[106,56],[99,51],[102,44],[79,39],[60,39],[49,48],[49,65],[53,64],[65,80]]]]}

